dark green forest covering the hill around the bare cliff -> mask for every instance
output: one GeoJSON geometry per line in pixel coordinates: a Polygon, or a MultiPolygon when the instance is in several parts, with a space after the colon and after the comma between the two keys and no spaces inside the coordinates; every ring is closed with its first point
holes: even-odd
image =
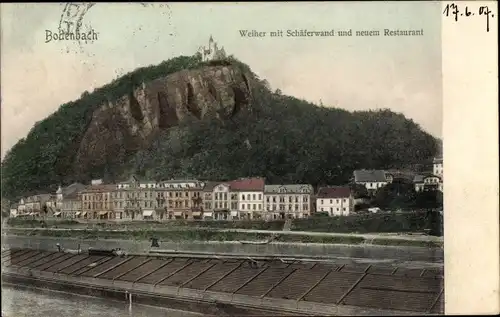
{"type": "MultiPolygon", "coordinates": [[[[92,93],[85,92],[38,122],[2,162],[2,197],[53,191],[58,185],[93,178],[121,181],[129,173],[156,180],[263,176],[269,183],[334,185],[347,182],[354,169],[407,166],[428,161],[436,153],[436,139],[401,114],[317,106],[279,90],[273,92],[265,80],[233,57],[226,63],[246,74],[247,86],[247,77],[251,81],[251,111],[239,111],[223,120],[187,116],[159,129],[140,146],[123,151],[117,147],[105,160],[95,157],[95,163],[82,170],[75,153],[81,150],[83,135],[88,138],[92,120],[99,120],[97,111],[103,102],[113,103],[141,85],[180,70],[213,65],[201,63],[199,56],[183,56],[138,69],[92,93]]],[[[118,139],[105,134],[106,130],[93,136],[95,146],[100,140],[118,139]]],[[[127,144],[129,137],[120,134],[117,144],[127,144]]]]}

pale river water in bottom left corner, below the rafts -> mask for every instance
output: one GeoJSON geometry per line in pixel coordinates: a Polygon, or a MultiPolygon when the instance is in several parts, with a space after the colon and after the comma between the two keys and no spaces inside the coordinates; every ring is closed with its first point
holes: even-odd
{"type": "Polygon", "coordinates": [[[201,314],[2,285],[2,317],[194,317],[201,314]]]}

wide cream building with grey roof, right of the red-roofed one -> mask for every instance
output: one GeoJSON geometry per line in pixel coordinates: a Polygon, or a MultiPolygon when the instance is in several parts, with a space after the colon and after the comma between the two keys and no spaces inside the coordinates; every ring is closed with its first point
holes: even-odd
{"type": "Polygon", "coordinates": [[[311,215],[312,185],[266,185],[264,218],[304,218],[311,215]]]}

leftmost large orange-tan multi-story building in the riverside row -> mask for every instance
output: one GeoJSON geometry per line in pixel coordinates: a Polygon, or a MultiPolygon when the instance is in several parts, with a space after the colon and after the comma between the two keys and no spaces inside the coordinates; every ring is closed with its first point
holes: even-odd
{"type": "Polygon", "coordinates": [[[115,185],[93,182],[80,192],[81,213],[76,216],[84,219],[114,219],[113,201],[111,193],[115,185]]]}

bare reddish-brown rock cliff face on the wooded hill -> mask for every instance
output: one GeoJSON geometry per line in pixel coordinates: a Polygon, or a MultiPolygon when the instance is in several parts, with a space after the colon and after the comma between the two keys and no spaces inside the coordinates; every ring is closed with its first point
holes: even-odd
{"type": "Polygon", "coordinates": [[[250,76],[232,65],[184,70],[143,84],[94,111],[75,172],[147,147],[157,132],[186,118],[227,120],[251,111],[251,100],[250,76]]]}

